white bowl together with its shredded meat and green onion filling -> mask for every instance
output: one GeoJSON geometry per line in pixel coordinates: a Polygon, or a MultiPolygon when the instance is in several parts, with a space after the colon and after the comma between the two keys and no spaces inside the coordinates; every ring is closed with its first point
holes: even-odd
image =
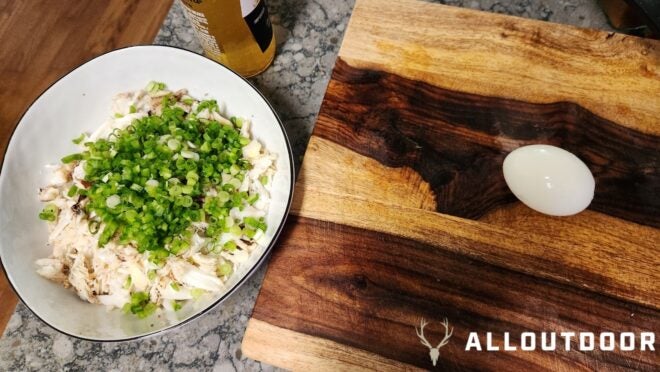
{"type": "Polygon", "coordinates": [[[295,180],[284,125],[254,86],[158,45],[113,50],[53,83],[0,167],[9,284],[45,324],[94,341],[251,300],[256,283],[245,285],[284,231],[295,180]]]}

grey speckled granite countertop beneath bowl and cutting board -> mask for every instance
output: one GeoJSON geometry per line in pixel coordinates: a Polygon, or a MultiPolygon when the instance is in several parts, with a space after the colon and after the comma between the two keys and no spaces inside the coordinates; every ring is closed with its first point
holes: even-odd
{"type": "MultiPolygon", "coordinates": [[[[497,13],[611,30],[596,0],[440,0],[497,13]]],[[[267,0],[277,38],[273,65],[251,79],[271,101],[300,164],[314,126],[354,0],[267,0]]],[[[442,22],[442,20],[438,20],[442,22]]],[[[156,44],[201,53],[175,2],[156,44]]],[[[124,343],[94,343],[58,333],[22,304],[0,338],[5,370],[274,370],[241,355],[241,340],[265,268],[221,306],[163,335],[124,343]]]]}

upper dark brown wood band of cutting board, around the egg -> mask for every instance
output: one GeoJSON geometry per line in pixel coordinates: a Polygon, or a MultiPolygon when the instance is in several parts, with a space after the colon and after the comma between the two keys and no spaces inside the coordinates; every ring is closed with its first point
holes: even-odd
{"type": "Polygon", "coordinates": [[[574,153],[594,174],[590,209],[660,227],[660,137],[574,103],[453,92],[340,58],[318,123],[316,136],[414,169],[441,213],[476,219],[515,201],[502,175],[504,158],[517,147],[545,143],[574,153]]]}

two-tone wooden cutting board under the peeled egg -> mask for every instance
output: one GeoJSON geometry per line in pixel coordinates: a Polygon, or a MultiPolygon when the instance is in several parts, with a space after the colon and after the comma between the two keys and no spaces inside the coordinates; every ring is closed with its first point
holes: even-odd
{"type": "Polygon", "coordinates": [[[656,41],[358,0],[243,353],[294,370],[658,370],[639,345],[660,329],[659,64],[656,41]],[[590,167],[587,211],[516,201],[502,160],[533,143],[590,167]],[[433,347],[453,329],[435,367],[422,318],[433,347]],[[596,350],[565,350],[569,331],[596,350]],[[637,350],[599,350],[607,331],[637,350]],[[470,332],[517,350],[466,351],[470,332]]]}

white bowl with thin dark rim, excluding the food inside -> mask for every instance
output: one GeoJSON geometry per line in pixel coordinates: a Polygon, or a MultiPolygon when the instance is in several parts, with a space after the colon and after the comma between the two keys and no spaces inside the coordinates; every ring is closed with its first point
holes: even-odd
{"type": "Polygon", "coordinates": [[[245,79],[200,55],[165,46],[136,46],[99,56],[62,77],[37,98],[14,131],[0,172],[0,262],[14,290],[35,315],[56,330],[95,341],[121,341],[173,328],[207,312],[234,292],[264,262],[282,230],[293,196],[293,160],[284,127],[266,99],[245,79]],[[229,115],[249,117],[252,134],[278,155],[268,212],[267,247],[252,253],[226,289],[194,305],[146,319],[82,301],[42,278],[34,261],[48,257],[47,227],[37,198],[47,164],[76,152],[71,139],[109,117],[112,97],[149,81],[187,88],[196,98],[224,102],[229,115]]]}

